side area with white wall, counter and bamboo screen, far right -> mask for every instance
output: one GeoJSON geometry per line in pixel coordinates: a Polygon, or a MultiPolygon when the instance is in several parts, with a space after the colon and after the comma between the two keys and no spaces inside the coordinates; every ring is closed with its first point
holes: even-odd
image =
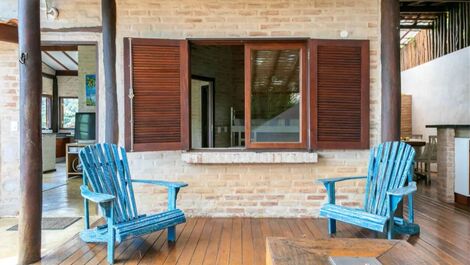
{"type": "Polygon", "coordinates": [[[402,4],[401,137],[432,197],[470,205],[470,48],[464,3],[402,4]],[[432,12],[431,12],[432,11],[432,12]]]}

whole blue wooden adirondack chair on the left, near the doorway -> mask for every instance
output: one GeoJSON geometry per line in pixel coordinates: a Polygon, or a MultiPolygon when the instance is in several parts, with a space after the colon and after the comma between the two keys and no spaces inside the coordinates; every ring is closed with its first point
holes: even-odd
{"type": "Polygon", "coordinates": [[[186,222],[184,213],[176,208],[176,196],[186,183],[131,179],[126,151],[114,144],[96,144],[80,151],[83,182],[85,230],[80,238],[85,242],[108,244],[107,260],[114,263],[114,243],[129,236],[140,236],[168,229],[168,241],[176,240],[175,226],[186,222]],[[132,183],[155,184],[168,188],[168,210],[151,215],[139,215],[132,183]],[[90,184],[93,191],[88,188],[90,184]],[[88,200],[97,203],[106,224],[90,229],[88,200]]]}

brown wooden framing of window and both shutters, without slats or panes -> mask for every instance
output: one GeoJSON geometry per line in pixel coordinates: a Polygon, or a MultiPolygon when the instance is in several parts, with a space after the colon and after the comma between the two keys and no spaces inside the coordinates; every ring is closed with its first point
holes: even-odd
{"type": "MultiPolygon", "coordinates": [[[[303,150],[305,152],[313,152],[318,149],[368,149],[368,143],[370,141],[370,120],[369,120],[369,87],[370,87],[370,79],[369,79],[369,71],[371,68],[370,65],[370,52],[369,52],[369,43],[370,40],[368,39],[361,39],[361,40],[342,40],[342,39],[331,39],[331,40],[320,40],[314,38],[235,38],[235,39],[228,39],[228,38],[187,38],[184,40],[165,40],[165,39],[158,39],[158,38],[124,38],[124,65],[128,67],[124,67],[124,96],[125,96],[125,143],[126,149],[128,151],[167,151],[167,150],[186,150],[186,151],[275,151],[275,150],[303,150]],[[182,134],[182,143],[181,146],[168,146],[168,145],[152,145],[152,146],[145,146],[139,148],[133,148],[133,131],[132,131],[132,105],[131,101],[129,100],[129,96],[132,96],[132,44],[134,42],[139,43],[149,43],[149,44],[157,44],[162,43],[165,41],[181,41],[180,52],[181,52],[181,65],[183,68],[183,72],[181,73],[180,82],[181,82],[181,102],[183,104],[181,107],[181,123],[182,128],[184,129],[182,134]],[[363,42],[363,48],[361,56],[363,58],[362,64],[364,67],[365,72],[361,74],[361,82],[363,87],[363,97],[361,99],[361,116],[364,117],[361,121],[361,143],[354,143],[351,145],[349,142],[347,144],[343,144],[341,142],[331,142],[331,144],[324,144],[320,143],[316,138],[317,134],[317,124],[316,119],[318,118],[318,110],[316,104],[316,67],[317,62],[313,60],[315,58],[315,52],[312,49],[312,43],[319,43],[319,42],[335,42],[335,43],[342,43],[349,45],[350,43],[355,42],[363,42]],[[194,149],[190,147],[191,143],[191,113],[190,113],[190,83],[189,80],[191,78],[191,69],[190,69],[190,60],[191,54],[189,45],[241,45],[244,46],[245,54],[244,54],[244,73],[245,73],[245,84],[244,84],[244,92],[245,92],[245,134],[251,134],[251,120],[248,115],[251,116],[251,80],[249,81],[249,85],[247,86],[247,81],[251,78],[250,74],[247,73],[247,69],[251,72],[251,52],[248,50],[247,47],[278,47],[279,49],[287,49],[290,45],[291,47],[300,48],[300,56],[301,56],[301,64],[300,64],[300,142],[263,142],[263,143],[252,143],[251,138],[246,138],[245,146],[242,148],[202,148],[202,149],[194,149]],[[246,58],[249,58],[247,60],[246,58]],[[250,67],[246,67],[246,65],[250,67]],[[248,79],[248,80],[247,80],[248,79]],[[186,83],[183,82],[186,80],[186,83]],[[248,101],[248,105],[246,104],[248,101]],[[248,110],[249,112],[247,112],[248,110]]],[[[250,73],[248,72],[248,73],[250,73]]]]}

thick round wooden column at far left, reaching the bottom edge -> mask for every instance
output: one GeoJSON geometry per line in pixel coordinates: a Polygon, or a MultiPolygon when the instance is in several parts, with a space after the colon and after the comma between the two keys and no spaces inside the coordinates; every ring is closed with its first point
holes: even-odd
{"type": "Polygon", "coordinates": [[[18,1],[20,70],[20,218],[18,264],[41,259],[41,31],[39,0],[18,1]]]}

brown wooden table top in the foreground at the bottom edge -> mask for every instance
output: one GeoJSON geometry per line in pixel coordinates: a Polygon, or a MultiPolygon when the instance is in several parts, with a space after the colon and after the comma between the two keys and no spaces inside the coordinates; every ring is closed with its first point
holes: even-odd
{"type": "Polygon", "coordinates": [[[432,253],[418,251],[403,240],[385,239],[266,239],[267,265],[330,264],[330,256],[374,257],[382,264],[439,264],[432,253]]]}

